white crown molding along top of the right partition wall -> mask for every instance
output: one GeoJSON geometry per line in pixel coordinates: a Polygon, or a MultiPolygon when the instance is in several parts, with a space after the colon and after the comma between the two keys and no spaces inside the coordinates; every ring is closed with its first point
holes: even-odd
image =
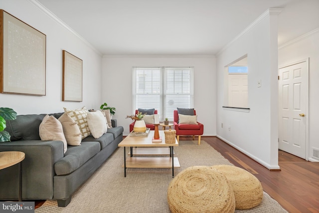
{"type": "Polygon", "coordinates": [[[283,8],[269,8],[265,12],[263,12],[256,20],[254,20],[248,27],[246,27],[239,35],[237,35],[232,41],[230,41],[226,46],[224,46],[216,56],[220,55],[223,51],[225,51],[228,47],[230,47],[236,40],[244,36],[248,33],[252,28],[254,28],[257,24],[259,24],[262,20],[269,17],[270,15],[278,15],[283,11],[283,8]]]}

